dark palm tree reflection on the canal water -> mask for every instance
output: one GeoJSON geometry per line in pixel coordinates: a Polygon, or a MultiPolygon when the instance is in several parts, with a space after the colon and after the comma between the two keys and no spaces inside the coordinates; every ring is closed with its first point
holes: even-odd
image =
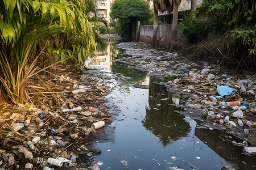
{"type": "Polygon", "coordinates": [[[187,137],[191,132],[189,122],[184,120],[185,116],[175,112],[181,111],[181,108],[175,105],[184,104],[180,100],[182,98],[182,95],[168,92],[165,87],[156,83],[154,78],[150,78],[149,107],[146,108],[142,124],[146,130],[159,138],[164,147],[187,137]]]}

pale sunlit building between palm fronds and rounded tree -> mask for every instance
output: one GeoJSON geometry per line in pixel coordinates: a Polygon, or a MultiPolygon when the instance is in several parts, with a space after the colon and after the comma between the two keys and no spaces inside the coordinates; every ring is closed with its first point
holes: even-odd
{"type": "Polygon", "coordinates": [[[105,17],[108,22],[111,22],[110,19],[110,9],[113,6],[115,0],[97,0],[98,8],[100,8],[101,16],[105,17]]]}

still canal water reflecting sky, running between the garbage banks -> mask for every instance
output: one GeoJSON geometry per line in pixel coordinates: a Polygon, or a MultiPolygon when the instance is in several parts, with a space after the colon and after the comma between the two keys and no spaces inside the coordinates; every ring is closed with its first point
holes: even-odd
{"type": "MultiPolygon", "coordinates": [[[[254,169],[255,156],[232,141],[243,142],[225,130],[201,128],[201,118],[187,109],[189,94],[167,89],[158,76],[112,61],[122,55],[109,44],[90,67],[113,79],[106,99],[113,121],[97,129],[93,150],[80,154],[80,168],[100,169],[254,169]],[[193,118],[193,119],[192,119],[193,118]],[[102,136],[101,136],[102,134],[102,136]]],[[[200,112],[198,113],[200,114],[200,112]]]]}

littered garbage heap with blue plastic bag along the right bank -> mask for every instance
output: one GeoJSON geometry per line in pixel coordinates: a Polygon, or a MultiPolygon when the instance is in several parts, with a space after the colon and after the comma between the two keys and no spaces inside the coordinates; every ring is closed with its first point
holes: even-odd
{"type": "MultiPolygon", "coordinates": [[[[187,107],[201,110],[210,129],[224,127],[251,145],[256,145],[256,74],[230,75],[206,62],[189,62],[177,53],[150,49],[144,42],[124,42],[117,61],[162,77],[170,90],[188,94],[187,107]]],[[[198,114],[198,112],[195,112],[198,114]]],[[[200,117],[203,118],[203,117],[200,117]]]]}

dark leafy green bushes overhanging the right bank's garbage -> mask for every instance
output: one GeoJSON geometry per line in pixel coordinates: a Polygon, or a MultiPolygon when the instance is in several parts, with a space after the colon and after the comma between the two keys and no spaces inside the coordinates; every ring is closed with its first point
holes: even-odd
{"type": "Polygon", "coordinates": [[[218,37],[211,42],[200,42],[193,46],[193,49],[186,48],[189,51],[187,53],[191,54],[193,50],[198,59],[208,56],[214,58],[217,63],[233,65],[237,69],[255,69],[255,1],[208,0],[203,2],[200,10],[205,12],[202,19],[186,16],[180,24],[183,35],[189,44],[201,41],[206,37],[204,33],[214,33],[218,37]],[[219,39],[222,39],[222,42],[219,39]],[[200,46],[202,44],[204,47],[200,46]]]}

